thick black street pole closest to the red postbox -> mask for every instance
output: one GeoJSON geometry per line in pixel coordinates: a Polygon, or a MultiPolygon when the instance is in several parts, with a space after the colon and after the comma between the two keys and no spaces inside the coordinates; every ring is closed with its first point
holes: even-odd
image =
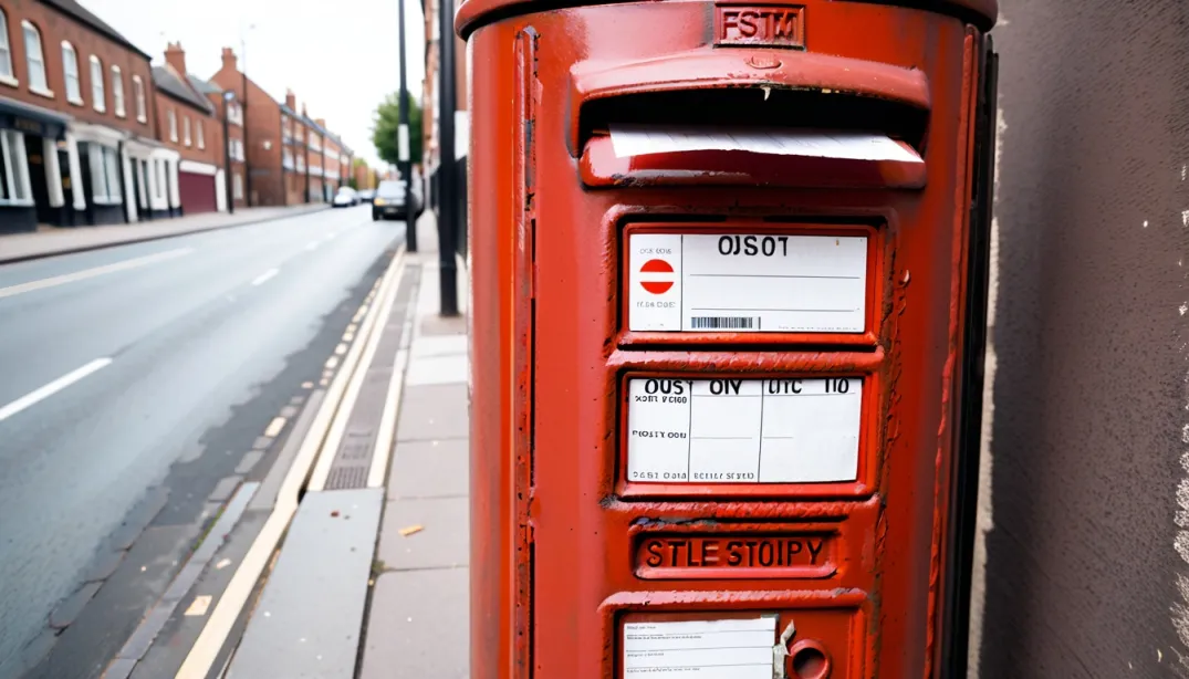
{"type": "Polygon", "coordinates": [[[440,143],[438,153],[441,162],[438,164],[438,186],[441,188],[441,197],[438,208],[438,275],[441,284],[441,315],[458,315],[458,265],[454,263],[454,244],[458,234],[458,208],[460,196],[458,195],[458,163],[454,159],[454,109],[458,108],[458,93],[454,82],[454,2],[452,0],[439,0],[438,10],[439,40],[438,49],[441,54],[441,70],[439,71],[439,87],[441,94],[441,113],[439,113],[440,143]]]}

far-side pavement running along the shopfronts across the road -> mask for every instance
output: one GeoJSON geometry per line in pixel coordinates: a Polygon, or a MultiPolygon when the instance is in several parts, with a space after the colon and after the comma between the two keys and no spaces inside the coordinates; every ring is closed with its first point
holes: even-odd
{"type": "Polygon", "coordinates": [[[201,231],[246,226],[322,209],[328,209],[328,206],[315,203],[290,207],[253,207],[240,208],[234,214],[212,212],[137,224],[75,226],[37,233],[0,235],[0,264],[51,254],[84,252],[127,243],[172,238],[201,231]]]}

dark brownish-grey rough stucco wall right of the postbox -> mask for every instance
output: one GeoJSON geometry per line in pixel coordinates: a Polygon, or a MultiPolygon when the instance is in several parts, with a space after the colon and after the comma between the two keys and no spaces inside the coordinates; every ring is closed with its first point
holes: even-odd
{"type": "Polygon", "coordinates": [[[1189,677],[1189,2],[1000,5],[973,669],[1189,677]]]}

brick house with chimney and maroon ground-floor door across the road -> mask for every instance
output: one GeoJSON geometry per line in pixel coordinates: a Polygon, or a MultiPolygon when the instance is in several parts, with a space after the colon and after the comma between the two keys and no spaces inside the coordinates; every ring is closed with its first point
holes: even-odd
{"type": "Polygon", "coordinates": [[[165,65],[152,69],[152,80],[157,138],[181,157],[170,176],[176,186],[170,207],[181,214],[226,209],[222,126],[214,106],[190,83],[182,45],[166,48],[165,65]]]}

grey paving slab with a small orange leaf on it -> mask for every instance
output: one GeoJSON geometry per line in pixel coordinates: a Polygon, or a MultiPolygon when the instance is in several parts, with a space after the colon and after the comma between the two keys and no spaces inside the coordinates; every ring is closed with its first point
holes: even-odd
{"type": "Polygon", "coordinates": [[[470,564],[470,502],[466,497],[392,499],[384,509],[377,557],[384,568],[455,568],[470,564]],[[420,526],[410,535],[402,528],[420,526]]]}

